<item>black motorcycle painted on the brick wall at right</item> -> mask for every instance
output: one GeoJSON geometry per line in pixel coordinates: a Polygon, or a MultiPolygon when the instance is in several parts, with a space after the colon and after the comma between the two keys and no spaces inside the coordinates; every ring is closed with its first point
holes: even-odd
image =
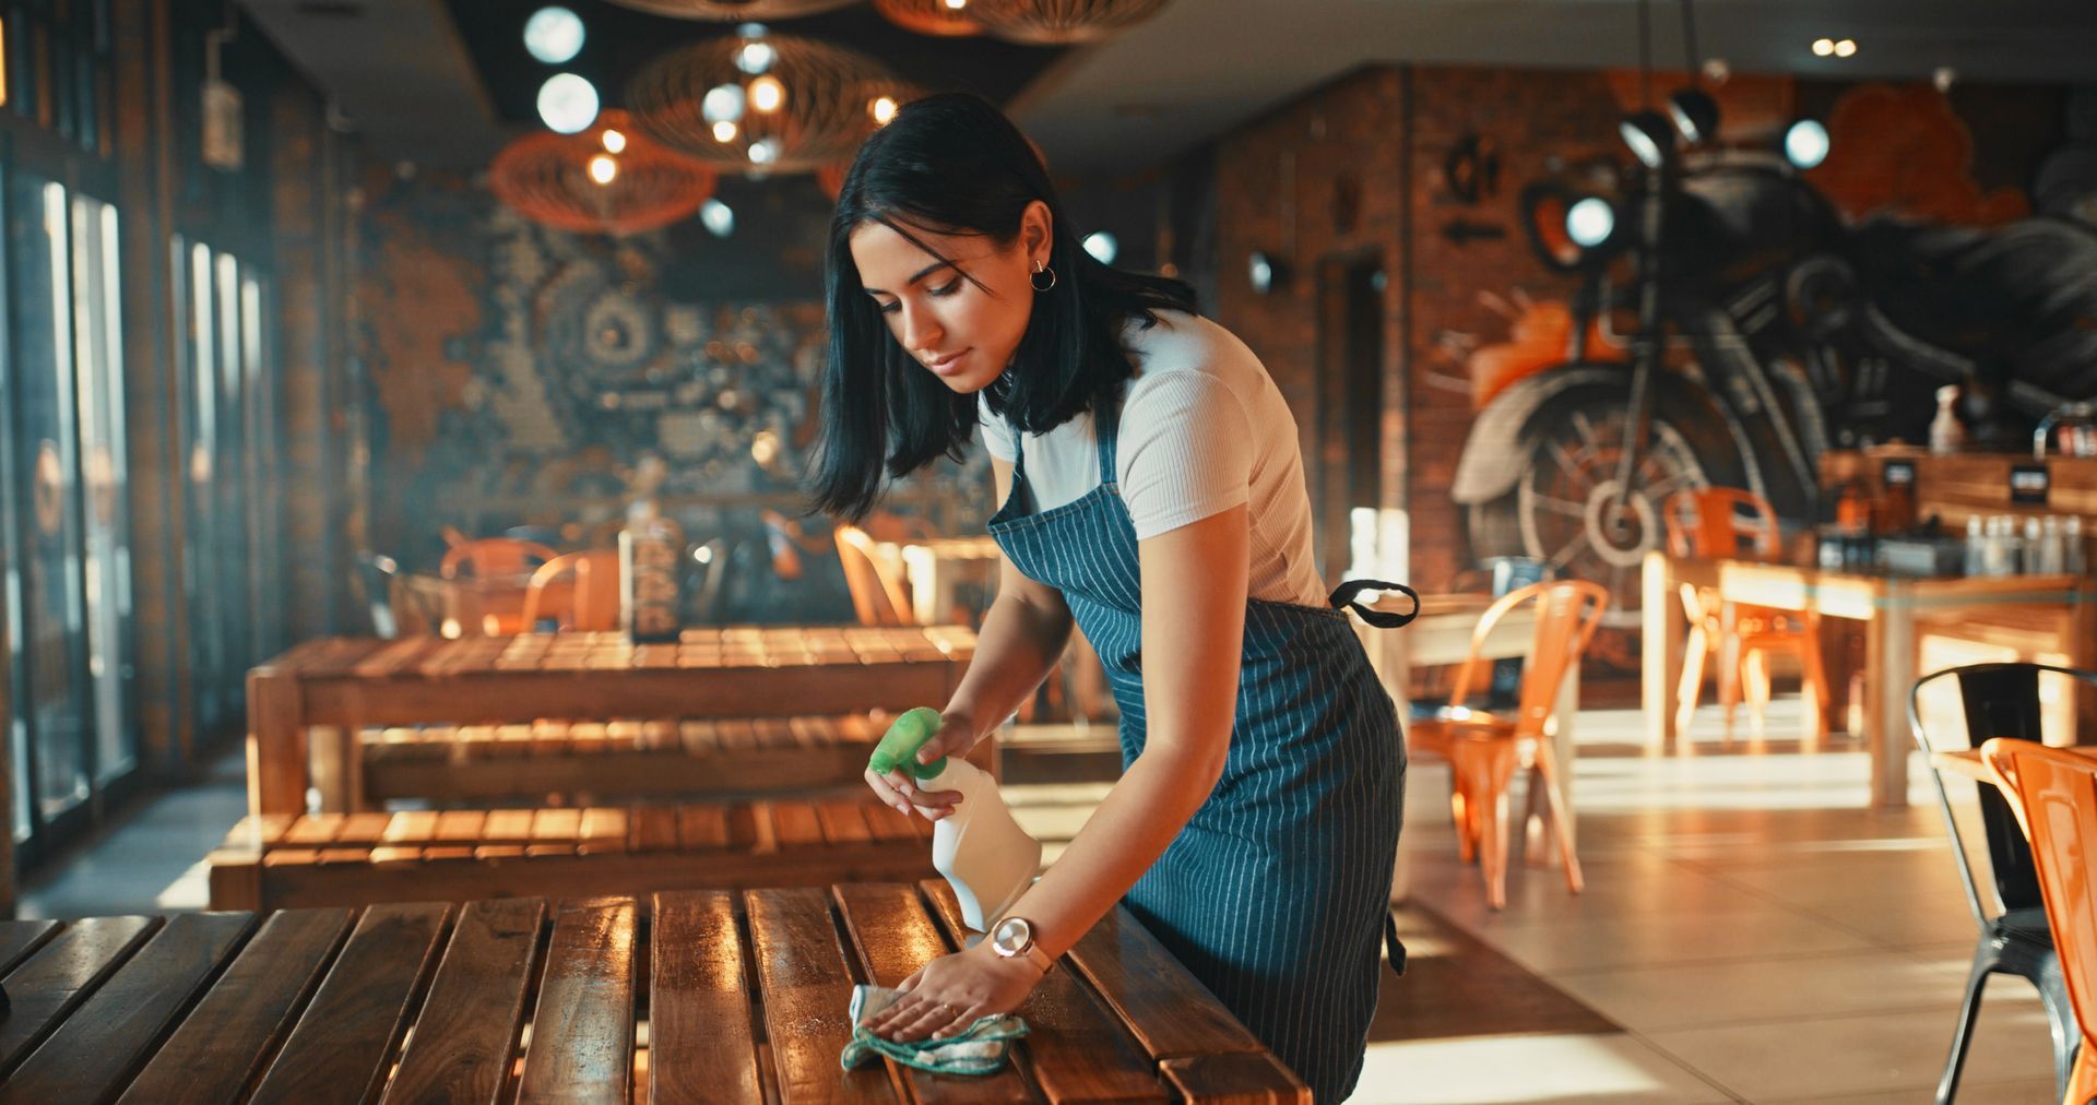
{"type": "Polygon", "coordinates": [[[1820,512],[1820,455],[1925,440],[1944,384],[1996,442],[2097,396],[2091,224],[1850,220],[1776,151],[1661,138],[1522,193],[1537,260],[1579,291],[1522,302],[1514,342],[1470,356],[1483,407],[1451,497],[1472,556],[1548,560],[1636,625],[1676,491],[1751,489],[1795,533],[1820,512]]]}

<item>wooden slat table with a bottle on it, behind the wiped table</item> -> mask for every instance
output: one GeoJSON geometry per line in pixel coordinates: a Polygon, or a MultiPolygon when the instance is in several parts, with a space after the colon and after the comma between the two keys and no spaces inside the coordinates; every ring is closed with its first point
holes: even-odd
{"type": "Polygon", "coordinates": [[[321,809],[356,809],[365,725],[902,711],[944,705],[973,652],[952,625],[321,637],[247,673],[247,807],[304,811],[310,774],[321,809]]]}

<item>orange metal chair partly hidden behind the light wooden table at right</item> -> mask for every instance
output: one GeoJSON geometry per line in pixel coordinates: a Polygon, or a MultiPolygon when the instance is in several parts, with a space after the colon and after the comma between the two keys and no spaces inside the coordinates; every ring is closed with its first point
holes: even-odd
{"type": "MultiPolygon", "coordinates": [[[[1770,501],[1736,486],[1678,491],[1661,505],[1661,522],[1667,526],[1667,551],[1673,556],[1772,560],[1780,539],[1770,501]]],[[[1734,625],[1728,629],[1726,604],[1717,593],[1688,583],[1682,585],[1682,610],[1690,619],[1690,633],[1684,642],[1682,684],[1676,688],[1678,732],[1688,732],[1703,692],[1705,660],[1717,652],[1717,700],[1726,711],[1726,734],[1732,734],[1734,707],[1745,690],[1749,719],[1755,736],[1761,736],[1770,705],[1770,656],[1782,652],[1797,656],[1803,673],[1799,686],[1806,698],[1803,736],[1820,738],[1829,679],[1820,660],[1818,612],[1734,606],[1734,625]]]]}

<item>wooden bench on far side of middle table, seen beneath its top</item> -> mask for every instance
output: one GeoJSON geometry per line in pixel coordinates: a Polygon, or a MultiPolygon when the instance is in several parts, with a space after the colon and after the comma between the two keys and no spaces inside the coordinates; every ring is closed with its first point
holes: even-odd
{"type": "MultiPolygon", "coordinates": [[[[866,793],[866,755],[887,715],[365,730],[363,797],[440,805],[547,795],[696,797],[866,793]]],[[[996,740],[971,759],[996,774],[996,740]]],[[[570,799],[572,801],[572,799],[570,799]]]]}

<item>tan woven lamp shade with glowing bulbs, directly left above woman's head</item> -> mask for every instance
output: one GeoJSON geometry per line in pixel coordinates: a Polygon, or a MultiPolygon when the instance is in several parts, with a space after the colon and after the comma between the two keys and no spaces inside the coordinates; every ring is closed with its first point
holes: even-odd
{"type": "Polygon", "coordinates": [[[663,55],[625,88],[627,109],[650,136],[698,157],[721,172],[812,172],[828,161],[849,161],[877,130],[872,105],[881,96],[904,103],[910,90],[874,59],[784,34],[765,34],[770,67],[753,78],[736,67],[751,38],[715,38],[663,55]],[[776,78],[784,99],[759,111],[749,88],[776,78]],[[728,138],[705,115],[709,90],[736,86],[744,107],[728,138]],[[759,151],[759,145],[765,149],[759,151]],[[761,157],[757,153],[763,153],[761,157]]]}

